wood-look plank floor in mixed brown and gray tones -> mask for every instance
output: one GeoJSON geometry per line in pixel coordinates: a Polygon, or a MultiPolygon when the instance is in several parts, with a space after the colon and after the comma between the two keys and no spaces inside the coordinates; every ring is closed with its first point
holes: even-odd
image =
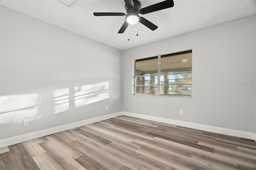
{"type": "Polygon", "coordinates": [[[254,140],[120,116],[1,148],[1,170],[256,170],[254,140]]]}

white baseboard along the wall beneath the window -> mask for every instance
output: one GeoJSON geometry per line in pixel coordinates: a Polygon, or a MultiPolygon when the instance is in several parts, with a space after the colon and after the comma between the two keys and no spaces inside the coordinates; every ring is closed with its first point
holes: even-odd
{"type": "Polygon", "coordinates": [[[154,117],[154,116],[142,115],[142,114],[137,114],[137,113],[122,112],[122,115],[136,117],[136,118],[140,118],[140,119],[147,119],[150,121],[168,123],[168,124],[178,125],[178,126],[183,126],[183,127],[188,127],[188,128],[195,128],[195,129],[199,129],[199,130],[206,130],[209,132],[227,134],[227,135],[231,135],[231,136],[237,136],[240,138],[252,139],[252,140],[255,140],[255,142],[256,142],[256,134],[252,133],[252,132],[245,132],[245,131],[241,131],[241,130],[234,130],[234,129],[222,128],[222,127],[214,127],[214,126],[209,126],[209,125],[202,125],[202,124],[198,124],[198,123],[178,121],[178,120],[174,120],[174,119],[154,117]]]}

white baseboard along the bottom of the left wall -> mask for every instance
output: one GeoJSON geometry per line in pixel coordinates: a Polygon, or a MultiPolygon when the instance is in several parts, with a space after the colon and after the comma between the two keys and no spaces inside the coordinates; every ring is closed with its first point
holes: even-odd
{"type": "Polygon", "coordinates": [[[50,135],[50,134],[53,134],[53,133],[62,132],[64,130],[68,130],[68,129],[88,125],[90,123],[103,121],[103,120],[110,119],[112,117],[117,117],[117,116],[120,116],[120,115],[122,115],[122,112],[112,113],[112,114],[109,114],[109,115],[95,117],[95,118],[92,118],[92,119],[86,119],[86,120],[79,121],[79,122],[69,123],[69,124],[66,124],[66,125],[58,126],[58,127],[48,128],[48,129],[39,130],[39,131],[36,131],[36,132],[31,132],[31,133],[22,134],[22,135],[19,135],[19,136],[14,136],[14,137],[11,137],[11,138],[2,139],[2,140],[0,140],[0,148],[5,147],[5,146],[10,146],[12,144],[17,144],[17,143],[20,143],[20,142],[24,142],[24,141],[27,141],[27,140],[40,138],[42,136],[47,136],[47,135],[50,135]]]}

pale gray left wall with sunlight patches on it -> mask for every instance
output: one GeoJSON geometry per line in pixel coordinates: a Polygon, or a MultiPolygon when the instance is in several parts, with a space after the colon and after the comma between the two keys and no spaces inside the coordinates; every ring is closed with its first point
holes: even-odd
{"type": "Polygon", "coordinates": [[[1,139],[122,111],[118,49],[1,6],[0,54],[1,139]]]}

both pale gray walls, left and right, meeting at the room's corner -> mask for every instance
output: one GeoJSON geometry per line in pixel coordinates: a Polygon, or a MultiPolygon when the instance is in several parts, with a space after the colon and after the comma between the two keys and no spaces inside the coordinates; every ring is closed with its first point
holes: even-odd
{"type": "Polygon", "coordinates": [[[124,51],[3,6],[0,19],[1,139],[119,111],[256,132],[255,15],[124,51]],[[191,99],[132,95],[133,59],[185,49],[191,99]]]}

